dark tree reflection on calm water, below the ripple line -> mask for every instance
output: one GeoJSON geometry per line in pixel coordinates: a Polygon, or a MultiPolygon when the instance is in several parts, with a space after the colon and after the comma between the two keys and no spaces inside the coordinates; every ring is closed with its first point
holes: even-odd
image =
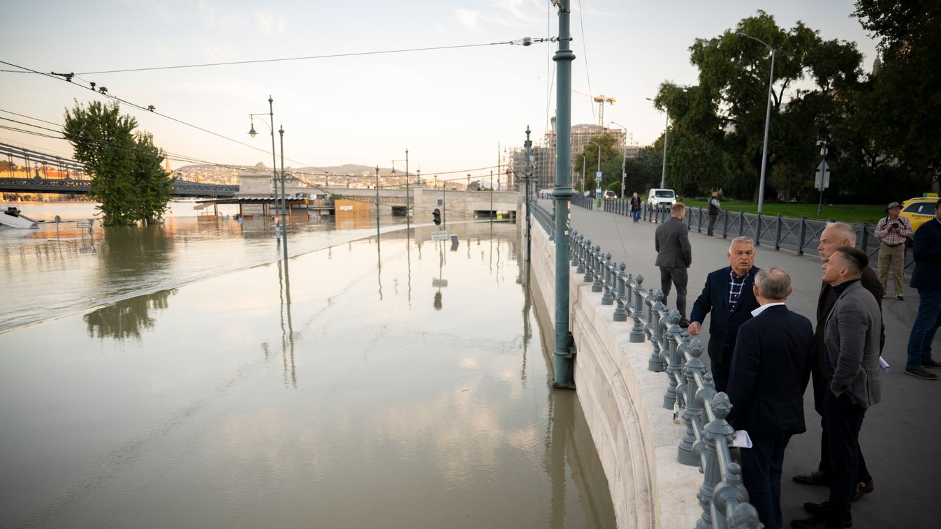
{"type": "Polygon", "coordinates": [[[92,338],[140,339],[144,329],[153,327],[150,311],[167,308],[167,300],[176,289],[161,290],[144,296],[109,304],[85,315],[88,336],[92,338]]]}

